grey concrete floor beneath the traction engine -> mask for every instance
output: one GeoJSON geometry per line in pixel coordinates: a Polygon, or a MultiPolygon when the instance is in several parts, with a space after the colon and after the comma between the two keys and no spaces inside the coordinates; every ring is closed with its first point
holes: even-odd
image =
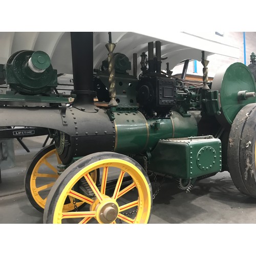
{"type": "MultiPolygon", "coordinates": [[[[24,138],[27,153],[15,141],[15,167],[2,170],[0,184],[1,224],[41,224],[42,214],[29,202],[24,189],[24,176],[31,158],[40,150],[45,137],[24,138]]],[[[153,193],[158,187],[152,182],[153,193]]],[[[190,193],[165,179],[153,201],[151,224],[218,224],[256,223],[256,199],[240,193],[228,172],[198,181],[190,193]]]]}

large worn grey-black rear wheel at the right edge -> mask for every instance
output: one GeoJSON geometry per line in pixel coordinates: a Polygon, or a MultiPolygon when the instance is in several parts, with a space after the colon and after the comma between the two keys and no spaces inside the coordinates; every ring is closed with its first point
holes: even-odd
{"type": "Polygon", "coordinates": [[[234,119],[228,141],[228,168],[241,193],[256,198],[256,103],[242,108],[234,119]]]}

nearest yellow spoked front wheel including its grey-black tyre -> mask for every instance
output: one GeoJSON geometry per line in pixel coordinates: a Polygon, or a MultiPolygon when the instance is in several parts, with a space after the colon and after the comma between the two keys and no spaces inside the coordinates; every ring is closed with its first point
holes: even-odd
{"type": "Polygon", "coordinates": [[[101,152],[70,165],[53,185],[44,211],[44,223],[148,223],[152,210],[152,187],[143,168],[132,158],[101,152]],[[100,186],[90,173],[99,169],[100,186]],[[94,195],[79,189],[85,179],[94,195]],[[68,197],[83,202],[82,211],[65,212],[68,197]]]}

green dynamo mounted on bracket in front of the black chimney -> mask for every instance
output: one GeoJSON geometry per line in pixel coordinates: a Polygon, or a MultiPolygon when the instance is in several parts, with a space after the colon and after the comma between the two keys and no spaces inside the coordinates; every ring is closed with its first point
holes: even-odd
{"type": "Polygon", "coordinates": [[[0,65],[0,78],[8,89],[1,101],[69,103],[70,99],[54,93],[57,87],[57,70],[49,55],[42,51],[18,51],[0,65]]]}

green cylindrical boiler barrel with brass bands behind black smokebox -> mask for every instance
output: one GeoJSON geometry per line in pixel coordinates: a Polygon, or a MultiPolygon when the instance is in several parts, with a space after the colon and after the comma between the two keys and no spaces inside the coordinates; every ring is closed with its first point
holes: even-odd
{"type": "Polygon", "coordinates": [[[115,152],[138,154],[151,151],[160,139],[197,136],[197,121],[194,115],[182,117],[173,112],[171,118],[148,119],[138,111],[116,112],[115,152]]]}

